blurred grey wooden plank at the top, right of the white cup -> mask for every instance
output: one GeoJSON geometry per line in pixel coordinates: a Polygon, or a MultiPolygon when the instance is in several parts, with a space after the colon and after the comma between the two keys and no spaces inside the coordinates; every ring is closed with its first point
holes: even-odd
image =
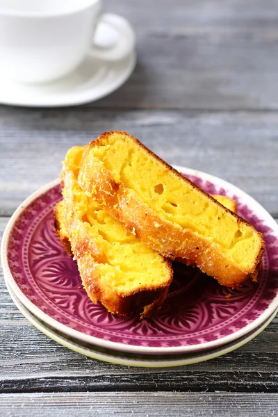
{"type": "Polygon", "coordinates": [[[91,106],[277,109],[275,0],[106,0],[136,29],[138,65],[91,106]]]}

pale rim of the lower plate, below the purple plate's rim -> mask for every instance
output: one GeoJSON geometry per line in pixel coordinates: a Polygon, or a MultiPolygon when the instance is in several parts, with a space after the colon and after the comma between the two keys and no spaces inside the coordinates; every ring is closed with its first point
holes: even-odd
{"type": "MultiPolygon", "coordinates": [[[[255,338],[261,332],[263,332],[265,327],[267,327],[270,324],[270,322],[272,322],[272,320],[275,318],[278,312],[277,307],[277,309],[274,312],[272,312],[270,316],[263,323],[261,323],[261,325],[259,325],[259,327],[256,327],[256,329],[254,329],[254,332],[248,333],[247,336],[243,336],[239,340],[237,339],[236,341],[234,341],[234,343],[229,343],[229,345],[215,347],[215,349],[212,352],[202,351],[197,353],[196,355],[194,354],[194,352],[190,352],[192,356],[184,359],[154,359],[153,361],[151,359],[131,359],[124,357],[115,357],[112,354],[113,350],[111,350],[110,354],[107,352],[97,352],[93,349],[89,350],[84,346],[80,346],[78,343],[78,339],[76,339],[76,341],[69,341],[67,339],[67,335],[56,334],[55,329],[49,329],[46,326],[44,326],[44,322],[41,322],[41,320],[39,321],[38,318],[31,313],[31,311],[28,311],[28,309],[26,309],[26,306],[24,306],[24,304],[20,302],[16,295],[13,294],[13,290],[9,287],[7,282],[6,286],[8,289],[8,293],[10,294],[10,297],[13,300],[15,306],[17,306],[17,309],[19,309],[19,311],[28,320],[28,322],[31,322],[31,325],[33,325],[36,329],[45,334],[47,337],[51,338],[56,343],[59,343],[60,345],[67,347],[67,349],[73,350],[74,352],[83,354],[84,356],[90,357],[92,359],[97,359],[99,361],[105,361],[108,363],[114,363],[115,365],[136,366],[140,368],[170,368],[177,366],[193,365],[193,363],[208,361],[223,356],[224,354],[227,354],[229,352],[233,352],[234,350],[238,349],[239,347],[242,347],[246,343],[249,343],[250,341],[252,341],[253,338],[255,338]]],[[[93,347],[94,345],[92,345],[92,348],[93,347]]]]}

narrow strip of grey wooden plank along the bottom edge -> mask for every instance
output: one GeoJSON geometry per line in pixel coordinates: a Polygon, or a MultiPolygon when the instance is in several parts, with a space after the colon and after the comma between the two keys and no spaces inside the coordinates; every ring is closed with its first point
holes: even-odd
{"type": "Polygon", "coordinates": [[[278,415],[277,395],[229,393],[69,393],[1,395],[5,417],[278,415]]]}

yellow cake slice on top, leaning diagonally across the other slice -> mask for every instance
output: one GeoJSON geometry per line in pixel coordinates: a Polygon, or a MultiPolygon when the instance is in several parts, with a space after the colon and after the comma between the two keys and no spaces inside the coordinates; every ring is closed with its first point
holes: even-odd
{"type": "Polygon", "coordinates": [[[262,235],[125,132],[90,143],[79,185],[153,250],[224,286],[240,286],[258,268],[262,235]]]}

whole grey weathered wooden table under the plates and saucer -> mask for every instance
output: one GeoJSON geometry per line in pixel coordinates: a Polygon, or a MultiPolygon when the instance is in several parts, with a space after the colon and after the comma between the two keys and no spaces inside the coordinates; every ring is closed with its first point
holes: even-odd
{"type": "MultiPolygon", "coordinates": [[[[1,232],[72,145],[126,130],[227,179],[278,218],[275,0],[109,0],[136,28],[126,84],[86,106],[0,107],[1,232]]],[[[2,272],[1,272],[2,274],[2,272]]],[[[168,369],[88,359],[38,332],[0,279],[1,416],[277,416],[278,320],[235,352],[168,369]]]]}

